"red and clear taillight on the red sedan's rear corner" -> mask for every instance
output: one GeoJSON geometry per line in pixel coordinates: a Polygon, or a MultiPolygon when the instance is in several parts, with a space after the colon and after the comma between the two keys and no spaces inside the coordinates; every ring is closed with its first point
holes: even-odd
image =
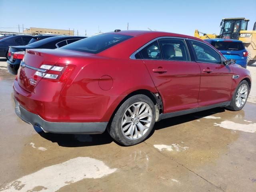
{"type": "Polygon", "coordinates": [[[57,81],[66,81],[71,73],[74,70],[74,66],[72,65],[47,65],[43,64],[40,66],[41,69],[46,69],[46,72],[39,72],[36,71],[34,74],[34,78],[36,79],[37,76],[48,79],[48,80],[57,80],[57,81]]]}

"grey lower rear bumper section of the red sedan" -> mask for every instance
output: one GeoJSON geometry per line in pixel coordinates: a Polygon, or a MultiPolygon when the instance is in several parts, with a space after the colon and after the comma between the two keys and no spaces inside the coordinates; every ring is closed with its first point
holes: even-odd
{"type": "Polygon", "coordinates": [[[45,132],[61,134],[101,134],[108,122],[48,122],[39,115],[29,112],[14,98],[15,112],[26,123],[39,126],[45,132]]]}

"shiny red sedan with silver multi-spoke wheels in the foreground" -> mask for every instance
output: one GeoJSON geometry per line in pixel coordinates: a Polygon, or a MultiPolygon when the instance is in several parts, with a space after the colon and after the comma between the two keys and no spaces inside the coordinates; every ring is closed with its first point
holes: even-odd
{"type": "Polygon", "coordinates": [[[55,50],[27,49],[13,87],[25,122],[52,133],[107,129],[130,146],[164,118],[241,110],[251,77],[198,38],[115,30],[55,50]]]}

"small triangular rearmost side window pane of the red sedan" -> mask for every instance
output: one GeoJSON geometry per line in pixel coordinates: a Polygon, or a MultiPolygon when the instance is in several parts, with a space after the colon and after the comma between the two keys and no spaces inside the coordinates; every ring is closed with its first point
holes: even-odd
{"type": "Polygon", "coordinates": [[[154,41],[140,51],[143,59],[162,60],[162,54],[158,41],[154,41]]]}

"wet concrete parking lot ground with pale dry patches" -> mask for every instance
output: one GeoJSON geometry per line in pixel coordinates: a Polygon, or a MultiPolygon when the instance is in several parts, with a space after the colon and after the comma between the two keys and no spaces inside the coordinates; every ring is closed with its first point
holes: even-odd
{"type": "MultiPolygon", "coordinates": [[[[248,69],[256,81],[256,67],[248,69]]],[[[1,192],[256,191],[254,84],[243,110],[162,120],[145,142],[123,147],[107,133],[34,129],[14,112],[14,79],[0,59],[1,192]]]]}

